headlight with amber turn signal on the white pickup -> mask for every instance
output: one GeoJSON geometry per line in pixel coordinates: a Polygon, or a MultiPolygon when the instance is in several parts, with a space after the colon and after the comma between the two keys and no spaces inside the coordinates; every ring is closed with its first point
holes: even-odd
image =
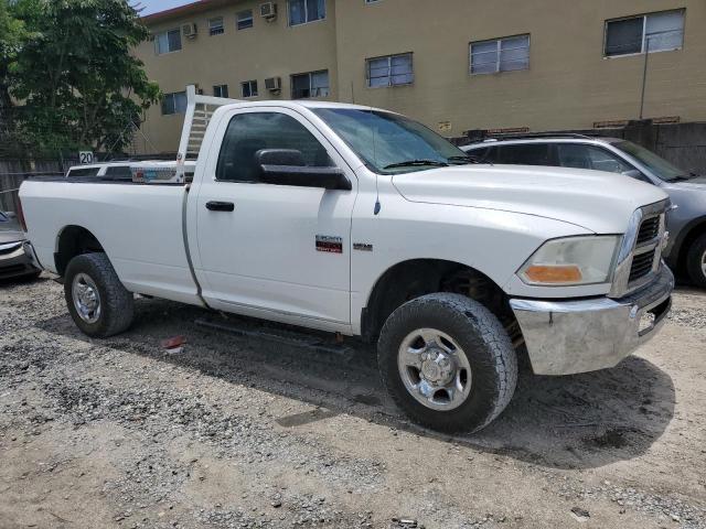
{"type": "Polygon", "coordinates": [[[548,240],[517,272],[527,284],[566,287],[607,283],[613,273],[620,237],[566,237],[548,240]]]}

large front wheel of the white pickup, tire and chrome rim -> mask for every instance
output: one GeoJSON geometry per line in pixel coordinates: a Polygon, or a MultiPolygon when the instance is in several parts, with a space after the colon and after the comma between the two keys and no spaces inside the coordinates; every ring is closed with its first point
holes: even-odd
{"type": "Polygon", "coordinates": [[[477,431],[507,406],[517,356],[500,321],[461,294],[429,294],[397,309],[378,342],[383,381],[415,422],[477,431]]]}

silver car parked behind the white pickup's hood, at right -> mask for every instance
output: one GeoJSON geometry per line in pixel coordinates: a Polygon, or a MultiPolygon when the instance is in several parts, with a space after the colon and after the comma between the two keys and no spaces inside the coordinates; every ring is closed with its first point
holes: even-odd
{"type": "Polygon", "coordinates": [[[662,187],[674,206],[667,214],[667,263],[706,288],[706,175],[683,171],[654,152],[618,138],[527,134],[488,139],[461,149],[483,163],[592,169],[662,187]]]}

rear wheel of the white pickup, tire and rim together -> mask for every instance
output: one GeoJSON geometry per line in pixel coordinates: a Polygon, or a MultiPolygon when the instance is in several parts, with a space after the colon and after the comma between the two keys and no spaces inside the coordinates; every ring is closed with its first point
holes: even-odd
{"type": "Polygon", "coordinates": [[[84,253],[69,261],[64,295],[74,322],[88,336],[106,338],[132,323],[132,293],[122,285],[105,253],[84,253]]]}

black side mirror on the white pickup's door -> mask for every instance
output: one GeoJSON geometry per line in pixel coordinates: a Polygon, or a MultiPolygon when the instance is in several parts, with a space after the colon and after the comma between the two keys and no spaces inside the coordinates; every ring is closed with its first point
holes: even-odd
{"type": "Polygon", "coordinates": [[[339,168],[307,166],[296,149],[263,149],[255,153],[260,182],[297,187],[351,191],[353,187],[339,168]]]}

